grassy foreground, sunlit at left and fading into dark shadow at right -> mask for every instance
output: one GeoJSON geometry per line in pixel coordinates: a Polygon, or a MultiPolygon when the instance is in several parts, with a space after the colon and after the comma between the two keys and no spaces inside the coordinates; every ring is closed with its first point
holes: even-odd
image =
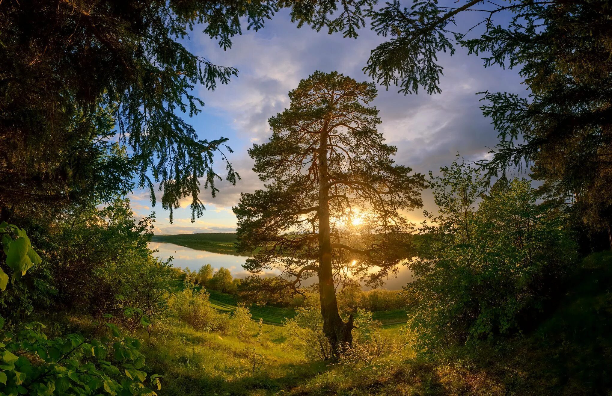
{"type": "MultiPolygon", "coordinates": [[[[594,395],[612,389],[612,253],[583,261],[556,305],[512,337],[417,355],[398,327],[404,310],[375,312],[382,332],[399,348],[372,364],[308,361],[278,326],[291,310],[252,307],[264,319],[247,337],[166,330],[147,348],[147,371],[164,374],[160,395],[594,395]],[[162,339],[163,338],[163,339],[162,339]]],[[[211,291],[211,304],[231,312],[236,300],[211,291]]],[[[235,326],[232,326],[235,327],[235,326]]]]}

